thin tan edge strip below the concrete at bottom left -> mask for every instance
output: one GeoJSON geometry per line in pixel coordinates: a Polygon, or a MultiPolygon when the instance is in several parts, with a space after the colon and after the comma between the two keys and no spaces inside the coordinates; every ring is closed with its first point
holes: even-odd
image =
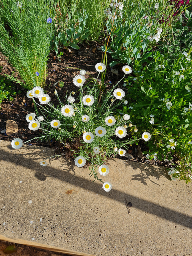
{"type": "Polygon", "coordinates": [[[52,252],[60,252],[60,253],[64,253],[64,254],[70,254],[73,256],[96,256],[94,254],[88,254],[88,253],[84,253],[84,252],[76,252],[76,251],[64,249],[61,247],[50,246],[47,244],[40,244],[38,242],[32,242],[32,241],[28,241],[28,240],[19,239],[19,238],[9,238],[9,237],[2,236],[2,235],[0,235],[0,240],[15,243],[15,244],[23,244],[26,246],[32,246],[32,247],[40,248],[43,250],[49,250],[52,252]]]}

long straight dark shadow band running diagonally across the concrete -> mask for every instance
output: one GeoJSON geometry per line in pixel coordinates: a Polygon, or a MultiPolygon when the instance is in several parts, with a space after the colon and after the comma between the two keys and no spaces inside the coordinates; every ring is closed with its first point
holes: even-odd
{"type": "MultiPolygon", "coordinates": [[[[32,152],[31,152],[31,154],[32,154],[32,152]]],[[[8,152],[4,152],[2,149],[0,150],[1,160],[7,161],[7,162],[13,162],[17,165],[31,169],[33,172],[35,172],[36,178],[38,178],[42,182],[44,180],[46,180],[46,177],[54,177],[54,178],[62,180],[64,182],[68,182],[74,186],[83,188],[84,190],[89,190],[96,194],[100,194],[102,196],[106,196],[113,200],[122,202],[123,204],[125,204],[125,199],[127,199],[128,202],[132,202],[134,208],[137,208],[144,212],[148,212],[150,214],[154,214],[160,218],[166,219],[166,220],[168,220],[170,222],[174,222],[176,224],[180,224],[187,228],[192,228],[192,217],[191,216],[188,216],[188,215],[180,213],[180,212],[176,212],[174,210],[170,210],[168,208],[165,208],[158,204],[154,204],[150,201],[141,199],[139,197],[132,196],[132,195],[126,194],[126,193],[122,193],[119,190],[112,189],[111,192],[106,193],[104,190],[101,190],[100,184],[98,184],[96,182],[91,182],[90,180],[76,176],[75,172],[74,172],[74,161],[64,160],[64,163],[62,163],[62,161],[61,161],[61,166],[59,166],[59,167],[61,169],[64,168],[64,170],[58,170],[51,166],[46,166],[46,168],[44,166],[40,166],[40,164],[36,163],[32,158],[27,159],[24,156],[26,156],[26,154],[23,152],[21,152],[21,154],[18,154],[18,153],[15,154],[14,150],[13,150],[13,153],[11,154],[8,152]],[[65,167],[62,166],[62,164],[64,164],[65,167]]],[[[38,155],[38,159],[39,159],[39,155],[38,155]]],[[[136,168],[136,166],[135,166],[135,168],[136,168]]],[[[137,168],[138,168],[138,166],[137,166],[137,168]]],[[[151,168],[153,168],[153,167],[151,167],[151,168]]],[[[152,172],[152,170],[150,170],[150,172],[152,172]]],[[[155,175],[159,175],[159,174],[155,173],[155,175]]],[[[127,214],[126,206],[125,206],[125,214],[127,214]]]]}

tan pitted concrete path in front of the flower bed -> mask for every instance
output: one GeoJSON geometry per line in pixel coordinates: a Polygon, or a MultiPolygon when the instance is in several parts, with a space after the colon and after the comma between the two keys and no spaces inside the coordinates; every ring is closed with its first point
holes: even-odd
{"type": "Polygon", "coordinates": [[[111,192],[43,147],[0,141],[0,234],[97,256],[192,256],[192,188],[163,168],[110,159],[111,192]],[[125,205],[132,202],[130,214],[125,205]]]}

